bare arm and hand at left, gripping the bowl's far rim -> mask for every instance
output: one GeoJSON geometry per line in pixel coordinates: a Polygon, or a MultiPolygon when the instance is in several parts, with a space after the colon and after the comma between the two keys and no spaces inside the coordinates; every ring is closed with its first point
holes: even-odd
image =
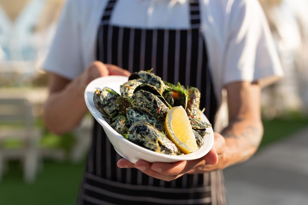
{"type": "Polygon", "coordinates": [[[79,125],[88,112],[84,100],[87,85],[94,79],[108,76],[130,76],[129,71],[116,65],[93,61],[79,77],[70,81],[51,73],[49,78],[50,95],[44,106],[45,126],[52,132],[61,134],[79,125]]]}

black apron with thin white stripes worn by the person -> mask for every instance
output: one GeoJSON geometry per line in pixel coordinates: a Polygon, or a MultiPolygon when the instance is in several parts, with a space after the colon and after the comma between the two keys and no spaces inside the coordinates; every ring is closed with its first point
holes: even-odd
{"type": "MultiPolygon", "coordinates": [[[[191,29],[140,29],[110,25],[116,0],[109,0],[97,35],[97,59],[130,72],[154,68],[163,80],[199,88],[201,107],[214,122],[216,97],[200,32],[199,3],[190,0],[189,4],[191,29]]],[[[95,122],[79,205],[226,204],[220,170],[166,182],[137,169],[118,168],[120,158],[95,122]]]]}

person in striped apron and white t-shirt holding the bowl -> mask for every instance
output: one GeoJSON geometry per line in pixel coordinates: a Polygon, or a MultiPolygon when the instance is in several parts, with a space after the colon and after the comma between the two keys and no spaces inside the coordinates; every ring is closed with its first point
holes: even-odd
{"type": "Polygon", "coordinates": [[[226,205],[222,170],[256,152],[261,88],[282,75],[257,0],[67,0],[43,68],[50,75],[43,118],[54,133],[87,114],[93,79],[151,68],[199,88],[216,131],[200,159],[133,164],[94,121],[78,205],[226,205]]]}

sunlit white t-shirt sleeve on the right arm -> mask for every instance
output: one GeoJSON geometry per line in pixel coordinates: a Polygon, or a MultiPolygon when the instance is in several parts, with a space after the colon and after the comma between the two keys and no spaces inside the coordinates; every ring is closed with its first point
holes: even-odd
{"type": "Polygon", "coordinates": [[[282,76],[280,60],[258,1],[241,2],[230,8],[223,84],[259,81],[266,86],[282,76]]]}

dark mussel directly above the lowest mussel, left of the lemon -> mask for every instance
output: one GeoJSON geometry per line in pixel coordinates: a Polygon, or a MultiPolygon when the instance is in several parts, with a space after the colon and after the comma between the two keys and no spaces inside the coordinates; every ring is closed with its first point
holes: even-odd
{"type": "Polygon", "coordinates": [[[153,117],[147,112],[137,110],[135,108],[128,108],[126,110],[127,124],[131,125],[137,121],[146,121],[152,124],[159,131],[164,131],[164,123],[160,122],[156,117],[153,117]]]}

